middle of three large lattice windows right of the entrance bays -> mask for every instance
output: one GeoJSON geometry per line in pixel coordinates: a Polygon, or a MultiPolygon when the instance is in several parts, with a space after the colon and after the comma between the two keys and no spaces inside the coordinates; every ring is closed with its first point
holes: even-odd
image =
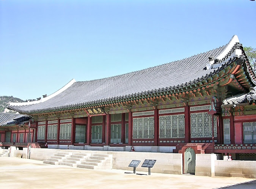
{"type": "Polygon", "coordinates": [[[185,117],[184,114],[159,116],[159,138],[184,138],[185,117]]]}

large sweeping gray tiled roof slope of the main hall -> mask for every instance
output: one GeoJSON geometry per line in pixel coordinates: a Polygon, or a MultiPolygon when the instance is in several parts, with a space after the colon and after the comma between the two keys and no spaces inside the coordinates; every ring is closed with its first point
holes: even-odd
{"type": "MultiPolygon", "coordinates": [[[[218,57],[226,50],[228,45],[226,44],[206,53],[200,53],[182,60],[140,71],[92,81],[75,82],[69,88],[45,102],[19,106],[11,105],[8,108],[22,113],[36,112],[39,110],[47,111],[93,104],[94,102],[125,99],[131,96],[151,94],[157,91],[188,86],[220,71],[220,68],[209,70],[205,70],[204,68],[206,67],[206,63],[209,62],[209,56],[218,57]]],[[[234,48],[229,50],[225,58],[229,54],[232,54],[232,51],[234,51],[234,48]]]]}

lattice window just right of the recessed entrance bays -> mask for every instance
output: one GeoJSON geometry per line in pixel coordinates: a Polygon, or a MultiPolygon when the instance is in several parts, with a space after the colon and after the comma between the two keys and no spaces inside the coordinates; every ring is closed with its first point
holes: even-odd
{"type": "Polygon", "coordinates": [[[133,138],[154,138],[154,117],[133,118],[133,138]]]}

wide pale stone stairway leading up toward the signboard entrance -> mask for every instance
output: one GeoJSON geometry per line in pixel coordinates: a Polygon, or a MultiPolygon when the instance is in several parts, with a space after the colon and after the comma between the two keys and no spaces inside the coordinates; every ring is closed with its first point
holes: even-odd
{"type": "Polygon", "coordinates": [[[86,169],[112,169],[113,155],[97,153],[70,152],[62,150],[43,162],[86,169]]]}

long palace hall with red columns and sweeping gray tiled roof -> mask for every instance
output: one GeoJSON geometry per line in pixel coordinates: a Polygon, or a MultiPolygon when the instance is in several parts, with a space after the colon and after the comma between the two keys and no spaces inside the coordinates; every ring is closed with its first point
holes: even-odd
{"type": "MultiPolygon", "coordinates": [[[[24,130],[31,140],[23,142],[37,147],[133,146],[256,160],[255,86],[243,46],[233,36],[224,46],[182,60],[92,81],[73,79],[52,95],[8,109],[30,117],[24,130]]],[[[3,146],[15,146],[22,133],[16,126],[0,128],[3,146]]]]}

